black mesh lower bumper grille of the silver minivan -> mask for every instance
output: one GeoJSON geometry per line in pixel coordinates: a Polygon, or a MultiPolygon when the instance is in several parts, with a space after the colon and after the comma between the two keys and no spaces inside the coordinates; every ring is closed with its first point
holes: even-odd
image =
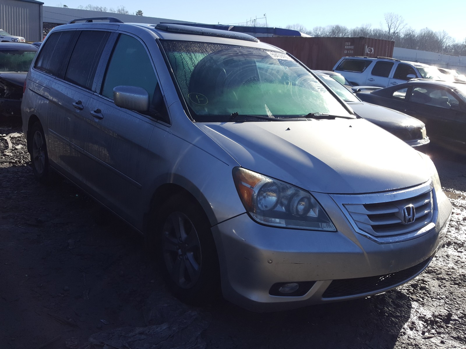
{"type": "Polygon", "coordinates": [[[333,280],[323,293],[322,298],[349,297],[353,295],[384,292],[416,277],[427,267],[431,260],[432,257],[411,268],[390,274],[360,277],[356,279],[333,280]]]}

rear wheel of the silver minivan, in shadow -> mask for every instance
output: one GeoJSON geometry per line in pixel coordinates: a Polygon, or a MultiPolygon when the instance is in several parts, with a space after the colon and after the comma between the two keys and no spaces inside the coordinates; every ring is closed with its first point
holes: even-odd
{"type": "Polygon", "coordinates": [[[47,144],[41,123],[36,121],[30,132],[31,165],[34,177],[38,181],[47,182],[50,177],[50,169],[48,166],[47,144]]]}

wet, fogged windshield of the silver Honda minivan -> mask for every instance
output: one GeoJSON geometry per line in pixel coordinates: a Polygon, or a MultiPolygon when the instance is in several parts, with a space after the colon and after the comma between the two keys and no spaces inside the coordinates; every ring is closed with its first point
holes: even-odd
{"type": "Polygon", "coordinates": [[[231,115],[353,117],[304,67],[281,52],[209,42],[162,40],[196,121],[231,115]],[[238,114],[236,114],[238,113],[238,114]]]}

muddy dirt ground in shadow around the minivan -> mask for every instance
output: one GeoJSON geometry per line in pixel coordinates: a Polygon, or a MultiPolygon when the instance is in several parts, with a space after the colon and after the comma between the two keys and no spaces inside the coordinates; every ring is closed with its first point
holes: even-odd
{"type": "Polygon", "coordinates": [[[430,152],[453,214],[425,273],[366,299],[256,314],[171,297],[142,237],[69,182],[38,184],[14,136],[0,138],[0,349],[466,348],[465,157],[430,152]]]}

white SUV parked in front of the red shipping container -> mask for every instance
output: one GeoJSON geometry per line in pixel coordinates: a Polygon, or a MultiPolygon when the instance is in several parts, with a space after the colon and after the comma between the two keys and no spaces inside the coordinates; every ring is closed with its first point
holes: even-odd
{"type": "Polygon", "coordinates": [[[413,78],[443,80],[436,67],[388,57],[342,57],[333,71],[359,86],[387,87],[413,78]]]}

